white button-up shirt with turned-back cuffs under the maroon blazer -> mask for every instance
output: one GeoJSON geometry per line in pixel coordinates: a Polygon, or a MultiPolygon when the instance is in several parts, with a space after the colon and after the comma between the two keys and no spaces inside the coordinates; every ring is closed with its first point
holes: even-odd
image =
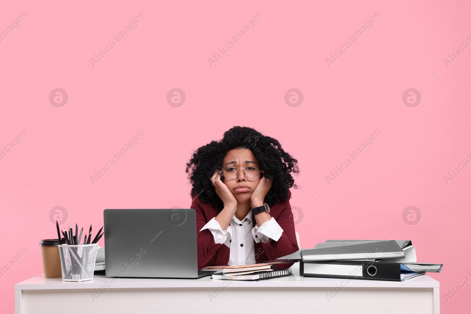
{"type": "MultiPolygon", "coordinates": [[[[249,211],[242,221],[237,217],[227,226],[227,230],[222,230],[219,222],[213,217],[201,230],[209,229],[214,237],[215,243],[225,244],[230,250],[228,265],[250,265],[255,263],[255,248],[253,241],[267,243],[281,237],[283,229],[278,225],[274,217],[264,222],[260,227],[252,228],[254,219],[252,210],[249,211]]],[[[200,231],[201,231],[200,230],[200,231]]],[[[259,252],[260,253],[260,252],[259,252]]]]}

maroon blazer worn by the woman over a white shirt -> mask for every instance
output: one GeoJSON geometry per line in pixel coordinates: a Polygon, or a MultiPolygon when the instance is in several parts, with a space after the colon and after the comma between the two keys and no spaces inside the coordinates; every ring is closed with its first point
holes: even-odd
{"type": "MultiPolygon", "coordinates": [[[[281,258],[285,255],[291,254],[299,250],[298,242],[296,241],[296,234],[294,233],[294,220],[292,217],[292,210],[290,205],[291,191],[288,190],[288,198],[283,202],[276,202],[275,205],[270,207],[270,216],[276,219],[276,222],[283,229],[283,233],[278,241],[271,240],[268,243],[255,242],[254,253],[255,261],[273,261],[276,258],[281,258]]],[[[199,197],[196,196],[191,202],[192,209],[196,210],[196,235],[197,235],[197,248],[198,248],[198,270],[202,270],[206,266],[227,265],[229,262],[230,249],[226,244],[214,242],[214,237],[209,229],[204,229],[204,225],[208,223],[213,217],[218,215],[218,210],[213,208],[211,203],[203,203],[199,197]]],[[[256,221],[253,219],[252,227],[255,227],[256,221]]],[[[290,267],[290,264],[276,264],[276,269],[290,267]]]]}

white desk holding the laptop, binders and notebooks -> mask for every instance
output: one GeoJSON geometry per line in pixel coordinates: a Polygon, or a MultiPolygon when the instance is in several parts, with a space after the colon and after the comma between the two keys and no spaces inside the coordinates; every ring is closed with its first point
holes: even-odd
{"type": "Polygon", "coordinates": [[[427,275],[405,282],[347,283],[345,279],[300,277],[299,263],[291,269],[289,277],[230,283],[210,276],[116,278],[111,283],[111,278],[97,274],[91,281],[63,282],[41,274],[15,285],[15,313],[440,313],[439,282],[427,275]],[[98,289],[102,289],[99,294],[98,289]]]}

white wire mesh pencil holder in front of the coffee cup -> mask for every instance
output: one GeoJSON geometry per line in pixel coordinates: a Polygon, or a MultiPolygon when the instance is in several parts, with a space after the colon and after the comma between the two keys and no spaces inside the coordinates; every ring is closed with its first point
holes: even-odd
{"type": "Polygon", "coordinates": [[[81,282],[93,279],[98,243],[58,245],[62,281],[81,282]]]}

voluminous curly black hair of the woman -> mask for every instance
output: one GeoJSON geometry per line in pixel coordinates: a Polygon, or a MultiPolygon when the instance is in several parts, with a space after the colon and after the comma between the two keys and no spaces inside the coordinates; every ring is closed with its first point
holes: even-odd
{"type": "Polygon", "coordinates": [[[210,179],[214,171],[220,169],[227,152],[236,148],[252,150],[259,161],[260,170],[265,170],[265,176],[273,177],[272,187],[264,200],[268,206],[286,200],[289,188],[298,188],[291,176],[291,172],[300,173],[298,161],[286,153],[275,138],[252,128],[235,126],[224,132],[219,142],[211,141],[199,147],[187,163],[185,172],[189,173],[191,169],[187,177],[193,185],[190,193],[192,199],[197,195],[203,203],[211,202],[218,211],[224,208],[210,179]]]}

